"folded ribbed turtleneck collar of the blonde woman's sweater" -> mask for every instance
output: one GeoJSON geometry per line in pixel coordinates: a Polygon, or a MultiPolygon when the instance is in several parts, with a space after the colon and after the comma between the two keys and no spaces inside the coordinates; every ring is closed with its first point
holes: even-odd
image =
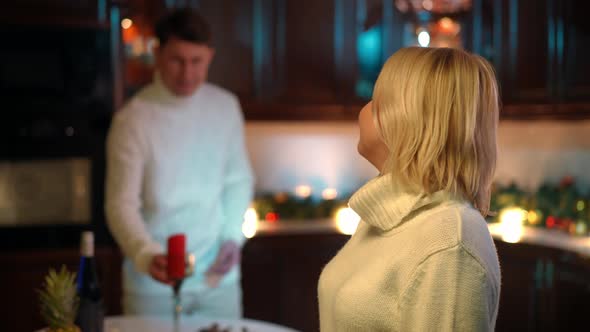
{"type": "Polygon", "coordinates": [[[394,184],[391,174],[386,174],[370,180],[355,192],[349,206],[364,222],[389,231],[406,221],[412,212],[450,199],[451,195],[444,191],[430,195],[405,191],[394,184]]]}

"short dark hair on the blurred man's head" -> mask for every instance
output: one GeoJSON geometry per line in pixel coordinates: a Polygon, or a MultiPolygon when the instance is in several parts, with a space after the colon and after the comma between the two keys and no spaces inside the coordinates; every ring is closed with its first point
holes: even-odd
{"type": "Polygon", "coordinates": [[[211,44],[209,23],[192,8],[169,12],[158,20],[155,28],[160,46],[166,45],[172,37],[196,44],[211,44]]]}

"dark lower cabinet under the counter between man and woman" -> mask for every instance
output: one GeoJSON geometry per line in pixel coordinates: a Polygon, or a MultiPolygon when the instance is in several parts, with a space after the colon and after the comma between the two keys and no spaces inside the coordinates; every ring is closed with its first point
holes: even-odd
{"type": "Polygon", "coordinates": [[[244,246],[244,315],[319,331],[317,283],[346,243],[342,234],[257,236],[244,246]]]}

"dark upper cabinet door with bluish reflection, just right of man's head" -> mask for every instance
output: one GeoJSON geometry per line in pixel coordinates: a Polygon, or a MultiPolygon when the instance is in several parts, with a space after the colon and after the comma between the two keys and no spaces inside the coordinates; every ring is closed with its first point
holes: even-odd
{"type": "MultiPolygon", "coordinates": [[[[218,52],[210,79],[246,101],[334,103],[339,1],[199,1],[218,52]]],[[[351,1],[348,1],[351,2],[351,1]]],[[[352,3],[352,2],[351,2],[352,3]]]]}

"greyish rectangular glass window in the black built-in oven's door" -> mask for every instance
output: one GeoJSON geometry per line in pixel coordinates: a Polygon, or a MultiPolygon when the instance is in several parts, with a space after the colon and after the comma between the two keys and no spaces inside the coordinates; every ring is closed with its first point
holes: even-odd
{"type": "Polygon", "coordinates": [[[0,161],[0,227],[90,225],[91,159],[0,161]]]}

